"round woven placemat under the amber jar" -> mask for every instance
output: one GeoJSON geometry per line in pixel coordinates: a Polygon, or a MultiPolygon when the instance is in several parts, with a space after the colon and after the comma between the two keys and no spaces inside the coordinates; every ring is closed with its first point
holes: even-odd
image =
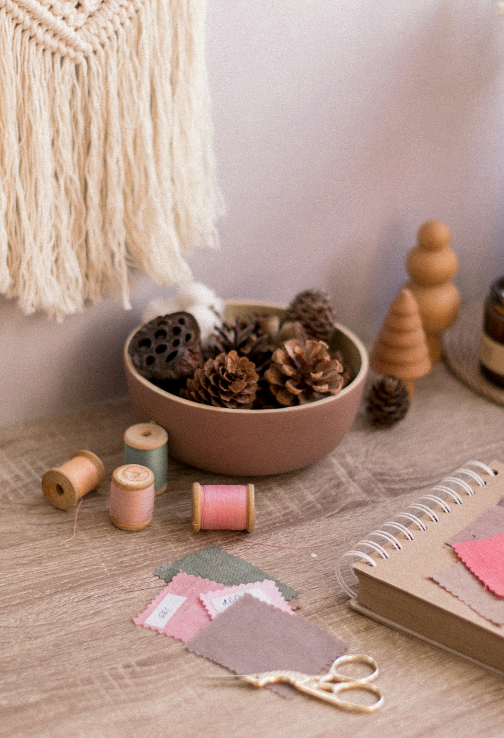
{"type": "Polygon", "coordinates": [[[504,390],[480,374],[478,352],[483,325],[483,300],[463,306],[455,323],[444,332],[443,358],[450,370],[480,395],[504,405],[504,390]]]}

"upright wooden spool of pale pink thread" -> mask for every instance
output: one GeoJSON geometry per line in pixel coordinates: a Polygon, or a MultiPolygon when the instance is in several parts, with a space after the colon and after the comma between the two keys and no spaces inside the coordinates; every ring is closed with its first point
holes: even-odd
{"type": "Polygon", "coordinates": [[[154,474],[147,466],[125,463],[111,480],[111,521],[122,531],[141,531],[153,520],[154,474]]]}

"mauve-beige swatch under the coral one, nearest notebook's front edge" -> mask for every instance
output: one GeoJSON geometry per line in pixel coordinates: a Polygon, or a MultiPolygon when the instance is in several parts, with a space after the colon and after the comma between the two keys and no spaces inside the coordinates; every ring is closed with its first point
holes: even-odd
{"type": "Polygon", "coordinates": [[[497,597],[461,561],[431,579],[495,625],[504,625],[504,599],[497,597]]]}

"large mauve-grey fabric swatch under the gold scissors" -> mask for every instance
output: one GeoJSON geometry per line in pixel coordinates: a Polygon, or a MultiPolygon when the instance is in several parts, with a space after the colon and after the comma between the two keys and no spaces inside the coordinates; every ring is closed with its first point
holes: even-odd
{"type": "MultiPolygon", "coordinates": [[[[304,618],[245,594],[188,641],[186,649],[234,674],[276,669],[321,674],[346,651],[346,644],[304,618]]],[[[295,694],[287,684],[269,689],[283,697],[295,694]]]]}

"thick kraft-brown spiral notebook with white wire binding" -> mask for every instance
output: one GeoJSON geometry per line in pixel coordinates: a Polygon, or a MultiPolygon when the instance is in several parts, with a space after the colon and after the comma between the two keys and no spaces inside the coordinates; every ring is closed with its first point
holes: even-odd
{"type": "Polygon", "coordinates": [[[503,497],[499,461],[469,461],[445,477],[341,556],[337,579],[350,606],[504,675],[504,625],[430,579],[458,560],[447,541],[503,497]]]}

